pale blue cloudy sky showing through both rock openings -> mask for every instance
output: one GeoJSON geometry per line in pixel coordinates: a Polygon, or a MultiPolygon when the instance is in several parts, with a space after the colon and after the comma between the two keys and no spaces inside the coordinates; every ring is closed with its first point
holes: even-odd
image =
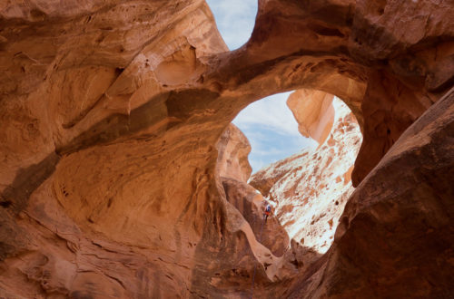
{"type": "MultiPolygon", "coordinates": [[[[229,49],[237,49],[248,41],[257,14],[257,0],[207,0],[207,3],[229,49]]],[[[251,142],[252,173],[314,142],[298,132],[298,123],[285,104],[290,93],[255,101],[233,120],[251,142]]]]}

